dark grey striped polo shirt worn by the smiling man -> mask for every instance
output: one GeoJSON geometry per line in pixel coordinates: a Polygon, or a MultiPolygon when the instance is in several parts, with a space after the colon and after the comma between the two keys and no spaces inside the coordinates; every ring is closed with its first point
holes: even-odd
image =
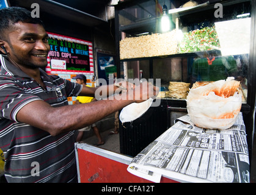
{"type": "Polygon", "coordinates": [[[0,59],[0,148],[7,182],[77,182],[74,132],[53,137],[18,122],[16,114],[32,101],[45,101],[53,107],[68,105],[67,97],[78,96],[82,86],[40,69],[44,90],[5,57],[0,55],[0,59]]]}

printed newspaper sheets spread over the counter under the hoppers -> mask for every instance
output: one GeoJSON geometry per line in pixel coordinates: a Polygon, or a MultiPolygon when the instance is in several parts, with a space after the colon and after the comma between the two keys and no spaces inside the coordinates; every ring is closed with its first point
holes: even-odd
{"type": "Polygon", "coordinates": [[[175,120],[155,141],[133,158],[127,170],[160,182],[249,183],[249,152],[242,113],[227,130],[194,126],[189,115],[175,120]]]}

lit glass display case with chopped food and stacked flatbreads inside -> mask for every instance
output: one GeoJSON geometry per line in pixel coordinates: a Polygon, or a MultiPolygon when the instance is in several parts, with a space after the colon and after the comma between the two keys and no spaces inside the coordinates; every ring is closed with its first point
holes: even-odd
{"type": "Polygon", "coordinates": [[[145,79],[161,79],[158,98],[161,109],[166,108],[166,127],[172,115],[186,114],[189,88],[233,77],[240,81],[251,150],[254,24],[255,1],[121,1],[115,6],[118,77],[139,78],[142,69],[145,79]]]}

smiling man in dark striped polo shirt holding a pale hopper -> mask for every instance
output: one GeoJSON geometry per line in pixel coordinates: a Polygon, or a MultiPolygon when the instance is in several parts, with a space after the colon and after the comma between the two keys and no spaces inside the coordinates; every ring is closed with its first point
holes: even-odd
{"type": "Polygon", "coordinates": [[[83,87],[46,74],[41,68],[47,65],[48,35],[42,21],[19,7],[0,10],[0,51],[0,148],[7,182],[77,182],[75,130],[158,94],[148,83],[141,88],[122,82],[127,90],[121,99],[68,105],[70,96],[120,90],[83,87]]]}

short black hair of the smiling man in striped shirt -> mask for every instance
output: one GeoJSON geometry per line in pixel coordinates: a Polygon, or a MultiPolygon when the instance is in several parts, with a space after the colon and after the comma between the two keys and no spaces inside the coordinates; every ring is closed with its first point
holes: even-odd
{"type": "Polygon", "coordinates": [[[0,39],[5,38],[5,30],[9,30],[15,23],[40,24],[43,22],[38,18],[32,18],[31,12],[22,7],[6,7],[0,9],[0,39]]]}

